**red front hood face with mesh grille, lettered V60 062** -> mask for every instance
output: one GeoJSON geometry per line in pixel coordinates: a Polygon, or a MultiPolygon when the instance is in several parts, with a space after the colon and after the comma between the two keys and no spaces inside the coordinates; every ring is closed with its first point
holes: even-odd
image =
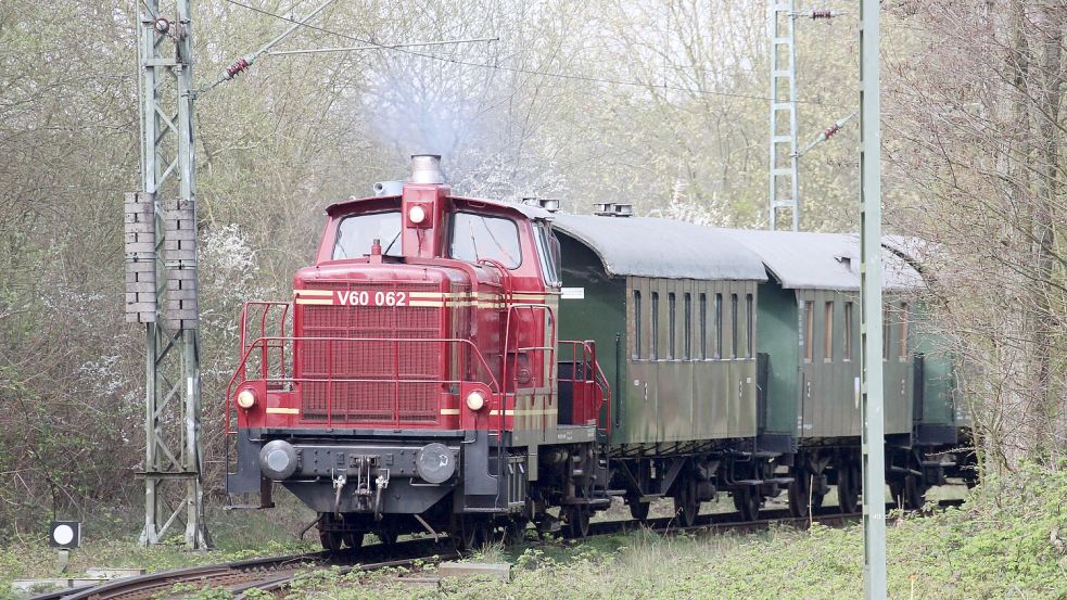
{"type": "MultiPolygon", "coordinates": [[[[437,284],[308,283],[309,290],[440,292],[437,284]]],[[[357,342],[345,339],[446,337],[435,306],[302,305],[297,356],[303,420],[350,423],[432,423],[447,380],[446,348],[435,342],[357,342]],[[339,381],[358,380],[358,381],[339,381]]]]}

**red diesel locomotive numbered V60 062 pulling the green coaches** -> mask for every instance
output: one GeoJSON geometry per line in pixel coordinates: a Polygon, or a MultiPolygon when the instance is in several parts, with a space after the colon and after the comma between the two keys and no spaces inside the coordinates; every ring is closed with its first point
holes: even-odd
{"type": "Polygon", "coordinates": [[[291,303],[245,306],[228,492],[268,505],[281,483],[332,550],[531,521],[584,535],[609,503],[609,387],[592,343],[557,340],[550,213],[450,195],[439,156],[412,167],[398,194],[327,209],[291,303]]]}

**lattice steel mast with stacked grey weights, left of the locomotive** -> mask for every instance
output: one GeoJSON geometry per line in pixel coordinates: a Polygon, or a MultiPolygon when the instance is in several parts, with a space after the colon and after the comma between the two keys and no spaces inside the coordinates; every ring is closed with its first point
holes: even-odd
{"type": "Polygon", "coordinates": [[[126,319],[144,323],[142,544],[183,521],[190,548],[204,524],[196,335],[196,190],[190,0],[143,0],[138,34],[141,190],[127,194],[126,319]]]}

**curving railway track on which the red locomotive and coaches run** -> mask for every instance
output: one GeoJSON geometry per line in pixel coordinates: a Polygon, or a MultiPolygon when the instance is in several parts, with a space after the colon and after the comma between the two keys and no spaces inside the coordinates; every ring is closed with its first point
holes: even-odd
{"type": "MultiPolygon", "coordinates": [[[[960,503],[960,500],[942,500],[939,506],[944,508],[960,503]]],[[[891,510],[895,509],[897,506],[888,503],[886,508],[891,510]]],[[[589,535],[612,535],[639,528],[671,535],[697,532],[758,532],[776,525],[803,527],[810,523],[840,526],[855,522],[863,516],[860,512],[840,513],[833,509],[821,509],[810,518],[791,516],[787,509],[765,510],[763,514],[764,518],[758,521],[742,521],[740,514],[736,512],[701,514],[697,518],[697,523],[691,526],[682,526],[676,519],[670,516],[649,519],[644,523],[634,520],[601,521],[589,525],[589,535]]],[[[419,561],[428,559],[457,557],[459,553],[444,542],[434,542],[430,539],[411,539],[389,546],[366,546],[336,554],[325,551],[309,552],[151,573],[117,579],[99,586],[43,593],[29,600],[150,600],[170,597],[168,591],[175,590],[175,586],[179,586],[179,589],[183,590],[182,592],[188,592],[190,589],[224,588],[236,600],[245,598],[245,593],[252,589],[283,596],[284,590],[293,582],[297,572],[305,569],[335,566],[340,574],[347,574],[353,571],[414,566],[419,561]]],[[[177,597],[180,593],[176,592],[173,596],[177,597]]]]}

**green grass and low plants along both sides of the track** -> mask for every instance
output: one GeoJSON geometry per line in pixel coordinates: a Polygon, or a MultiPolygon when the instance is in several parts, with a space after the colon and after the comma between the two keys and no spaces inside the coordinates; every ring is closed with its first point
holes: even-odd
{"type": "MultiPolygon", "coordinates": [[[[888,527],[889,596],[906,599],[1067,598],[1067,472],[1028,470],[987,484],[961,508],[930,516],[891,515],[888,527]]],[[[292,514],[293,509],[288,509],[292,514]]],[[[93,541],[79,567],[136,565],[165,569],[252,554],[300,551],[291,541],[301,519],[278,513],[217,515],[224,549],[188,553],[178,547],[141,549],[125,541],[93,541]],[[105,560],[106,559],[106,562],[105,560]]],[[[284,513],[282,513],[284,514],[284,513]]],[[[528,533],[532,536],[532,532],[528,533]]],[[[863,532],[860,525],[809,531],[772,528],[755,535],[660,537],[649,532],[584,542],[538,541],[490,546],[467,560],[507,562],[512,580],[445,579],[440,588],[397,579],[405,570],[341,575],[304,574],[295,598],[860,598],[863,532]]],[[[26,546],[0,552],[0,585],[14,573],[43,573],[47,550],[26,546]],[[31,550],[28,564],[18,554],[31,550]],[[36,562],[35,562],[36,561],[36,562]]],[[[428,567],[432,571],[432,565],[428,567]]],[[[24,576],[24,575],[20,575],[24,576]]],[[[192,592],[226,598],[223,590],[192,592]]]]}

